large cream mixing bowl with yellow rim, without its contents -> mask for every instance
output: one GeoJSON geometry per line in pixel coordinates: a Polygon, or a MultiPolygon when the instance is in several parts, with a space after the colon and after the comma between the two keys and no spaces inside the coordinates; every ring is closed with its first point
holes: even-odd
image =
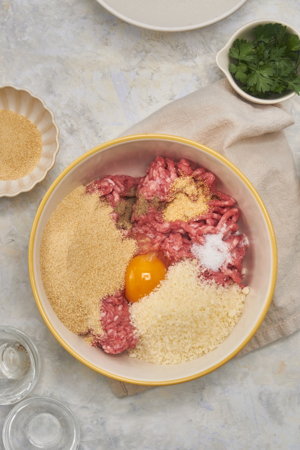
{"type": "Polygon", "coordinates": [[[40,313],[63,347],[75,358],[111,378],[127,383],[167,385],[183,383],[208,374],[233,358],[252,338],[264,320],[276,283],[277,251],[269,214],[249,180],[228,159],[205,145],[170,135],[134,135],[101,144],[72,162],[54,181],[40,203],[29,243],[31,287],[40,313]],[[249,247],[243,260],[250,287],[240,320],[219,347],[196,360],[176,365],[154,365],[127,356],[109,355],[90,347],[69,331],[55,315],[45,294],[40,274],[40,243],[49,217],[73,189],[103,175],[142,176],[157,155],[174,160],[185,158],[193,166],[215,174],[218,189],[232,195],[241,209],[239,231],[249,247]]]}

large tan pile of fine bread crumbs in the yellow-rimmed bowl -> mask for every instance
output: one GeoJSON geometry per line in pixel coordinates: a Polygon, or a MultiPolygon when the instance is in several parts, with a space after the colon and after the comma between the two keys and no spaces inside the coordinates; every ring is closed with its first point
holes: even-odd
{"type": "Polygon", "coordinates": [[[80,186],[45,226],[40,246],[45,293],[55,314],[75,334],[103,334],[100,300],[124,288],[126,268],[137,251],[136,241],[116,229],[112,211],[80,186]]]}

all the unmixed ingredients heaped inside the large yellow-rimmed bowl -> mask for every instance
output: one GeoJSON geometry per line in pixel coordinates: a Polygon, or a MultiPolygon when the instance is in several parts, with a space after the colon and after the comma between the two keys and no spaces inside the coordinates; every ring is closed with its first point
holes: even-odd
{"type": "Polygon", "coordinates": [[[142,177],[105,175],[76,188],[40,246],[54,312],[110,354],[174,365],[213,351],[250,292],[235,203],[213,173],[159,156],[142,177]]]}

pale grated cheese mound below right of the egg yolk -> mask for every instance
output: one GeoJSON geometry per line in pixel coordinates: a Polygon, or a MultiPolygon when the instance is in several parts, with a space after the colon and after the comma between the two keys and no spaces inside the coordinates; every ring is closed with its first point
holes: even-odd
{"type": "Polygon", "coordinates": [[[170,266],[148,296],[130,306],[139,342],[129,356],[154,364],[179,364],[221,344],[242,314],[249,288],[227,288],[198,278],[197,260],[170,266]]]}

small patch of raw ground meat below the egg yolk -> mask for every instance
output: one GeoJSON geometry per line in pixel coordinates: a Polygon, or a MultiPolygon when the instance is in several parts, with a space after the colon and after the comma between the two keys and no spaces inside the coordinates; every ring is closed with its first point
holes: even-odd
{"type": "Polygon", "coordinates": [[[93,347],[101,346],[107,353],[116,354],[136,346],[138,338],[130,323],[124,293],[116,292],[114,296],[101,300],[101,324],[105,336],[93,336],[93,347]]]}

